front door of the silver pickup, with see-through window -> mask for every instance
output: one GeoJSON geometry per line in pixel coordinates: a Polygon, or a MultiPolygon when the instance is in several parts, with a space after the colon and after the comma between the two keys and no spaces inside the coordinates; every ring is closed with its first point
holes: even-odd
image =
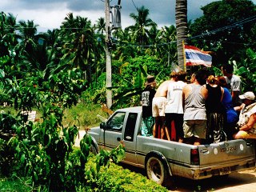
{"type": "Polygon", "coordinates": [[[114,149],[122,141],[122,130],[124,125],[125,112],[115,113],[107,122],[103,142],[108,150],[114,149]]]}

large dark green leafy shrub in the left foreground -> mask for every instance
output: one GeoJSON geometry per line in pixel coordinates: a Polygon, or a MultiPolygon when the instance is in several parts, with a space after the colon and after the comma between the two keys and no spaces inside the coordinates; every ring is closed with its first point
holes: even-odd
{"type": "MultiPolygon", "coordinates": [[[[26,82],[12,84],[10,93],[15,108],[31,110],[37,105],[42,110],[42,122],[26,122],[19,113],[17,116],[1,114],[1,137],[6,133],[8,136],[1,145],[1,154],[5,153],[1,165],[14,167],[12,171],[16,174],[31,178],[34,189],[74,191],[90,179],[84,171],[93,145],[90,136],[86,134],[80,143],[81,150],[74,152],[78,126],[75,123],[62,126],[65,109],[77,104],[84,88],[79,71],[61,71],[50,76],[49,81],[32,76],[26,82]],[[8,151],[12,152],[10,157],[8,151]]],[[[111,152],[101,152],[97,169],[109,161],[120,161],[123,153],[121,146],[111,152]]],[[[6,174],[4,170],[2,173],[6,174]]]]}

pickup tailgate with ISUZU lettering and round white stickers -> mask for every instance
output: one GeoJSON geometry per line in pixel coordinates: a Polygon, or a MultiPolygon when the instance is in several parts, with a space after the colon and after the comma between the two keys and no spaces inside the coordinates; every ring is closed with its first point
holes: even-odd
{"type": "Polygon", "coordinates": [[[200,167],[231,166],[255,159],[254,140],[236,139],[198,146],[200,167]]]}

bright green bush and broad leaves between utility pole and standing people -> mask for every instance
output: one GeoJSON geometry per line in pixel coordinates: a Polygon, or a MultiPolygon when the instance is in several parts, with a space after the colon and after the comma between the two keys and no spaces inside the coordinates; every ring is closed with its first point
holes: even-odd
{"type": "Polygon", "coordinates": [[[159,82],[169,76],[169,70],[159,65],[158,58],[153,56],[141,56],[130,58],[120,68],[122,78],[118,78],[112,87],[114,90],[113,108],[124,106],[138,106],[141,91],[144,89],[147,74],[152,74],[159,82]],[[160,80],[161,79],[161,80],[160,80]]]}

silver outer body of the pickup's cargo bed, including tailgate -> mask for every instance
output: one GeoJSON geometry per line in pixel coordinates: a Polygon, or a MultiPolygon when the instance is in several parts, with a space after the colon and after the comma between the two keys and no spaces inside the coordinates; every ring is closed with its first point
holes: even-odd
{"type": "Polygon", "coordinates": [[[230,174],[255,166],[254,140],[236,139],[210,145],[193,146],[158,138],[137,137],[137,166],[143,166],[145,155],[155,150],[162,153],[173,175],[192,179],[230,174]],[[198,165],[191,164],[191,150],[198,149],[198,165]]]}

